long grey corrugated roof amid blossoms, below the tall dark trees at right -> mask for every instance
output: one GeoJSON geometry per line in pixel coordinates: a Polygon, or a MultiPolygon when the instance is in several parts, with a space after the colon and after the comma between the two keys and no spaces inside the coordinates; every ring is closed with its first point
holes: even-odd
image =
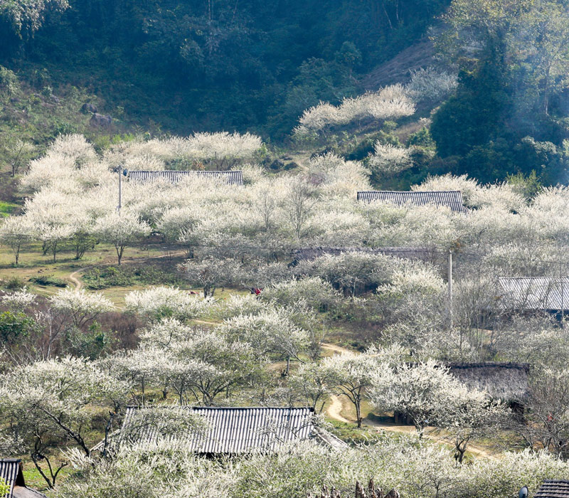
{"type": "Polygon", "coordinates": [[[394,203],[397,206],[447,206],[456,213],[466,213],[462,203],[461,191],[363,191],[358,192],[358,201],[382,201],[394,203]]]}

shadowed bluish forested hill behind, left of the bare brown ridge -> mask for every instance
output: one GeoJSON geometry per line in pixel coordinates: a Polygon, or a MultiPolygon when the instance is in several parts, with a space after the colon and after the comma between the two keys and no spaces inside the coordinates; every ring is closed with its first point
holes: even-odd
{"type": "Polygon", "coordinates": [[[163,131],[289,134],[320,100],[361,93],[450,0],[0,0],[0,64],[86,88],[163,131]]]}

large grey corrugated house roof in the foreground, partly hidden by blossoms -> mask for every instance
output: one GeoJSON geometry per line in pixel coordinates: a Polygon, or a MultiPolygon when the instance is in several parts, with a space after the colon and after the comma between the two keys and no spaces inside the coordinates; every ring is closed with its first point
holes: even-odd
{"type": "MultiPolygon", "coordinates": [[[[150,407],[153,410],[169,410],[169,406],[150,407]]],[[[254,451],[279,452],[288,443],[312,440],[327,447],[344,449],[346,443],[319,428],[314,422],[312,408],[221,408],[186,407],[192,413],[205,419],[203,430],[188,430],[166,438],[176,445],[184,445],[198,455],[242,455],[254,451]]],[[[149,407],[129,406],[124,416],[122,428],[114,438],[120,445],[121,433],[134,432],[137,443],[155,443],[160,436],[156,430],[143,427],[132,430],[140,410],[149,407]]],[[[132,440],[132,436],[130,438],[132,440]]],[[[92,448],[102,451],[103,443],[92,448]]]]}

